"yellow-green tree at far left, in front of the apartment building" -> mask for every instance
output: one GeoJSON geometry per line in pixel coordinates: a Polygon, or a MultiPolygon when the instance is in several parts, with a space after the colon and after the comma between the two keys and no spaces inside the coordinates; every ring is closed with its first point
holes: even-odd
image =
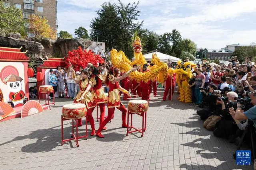
{"type": "Polygon", "coordinates": [[[25,35],[25,21],[22,10],[15,6],[6,7],[4,2],[0,2],[0,31],[8,33],[20,33],[25,35]]]}

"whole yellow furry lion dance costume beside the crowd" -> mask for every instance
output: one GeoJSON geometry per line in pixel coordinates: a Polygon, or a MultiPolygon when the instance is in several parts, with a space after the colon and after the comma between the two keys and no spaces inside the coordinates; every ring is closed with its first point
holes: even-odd
{"type": "Polygon", "coordinates": [[[192,68],[196,66],[191,62],[178,61],[178,66],[174,70],[176,73],[176,82],[180,92],[180,102],[191,103],[191,92],[188,86],[190,78],[192,78],[192,68]]]}

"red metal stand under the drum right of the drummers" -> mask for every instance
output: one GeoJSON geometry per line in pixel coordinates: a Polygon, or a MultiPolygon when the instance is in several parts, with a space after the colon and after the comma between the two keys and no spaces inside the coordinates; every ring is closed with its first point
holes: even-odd
{"type": "Polygon", "coordinates": [[[128,133],[133,133],[133,132],[140,132],[142,133],[141,137],[143,137],[144,135],[144,132],[146,131],[146,122],[147,122],[147,112],[143,112],[143,113],[132,113],[128,110],[128,116],[127,116],[127,133],[126,133],[126,136],[128,136],[128,133]],[[133,127],[132,126],[132,115],[133,114],[137,114],[139,116],[142,117],[142,129],[138,129],[136,127],[133,127]],[[131,124],[130,124],[130,127],[129,127],[129,115],[131,115],[131,124]],[[132,129],[134,129],[132,131],[132,129]]]}

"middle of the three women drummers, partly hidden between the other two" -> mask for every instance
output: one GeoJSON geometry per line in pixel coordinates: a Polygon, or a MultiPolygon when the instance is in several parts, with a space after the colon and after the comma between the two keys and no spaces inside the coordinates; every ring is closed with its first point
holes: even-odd
{"type": "MultiPolygon", "coordinates": [[[[105,117],[105,103],[108,102],[108,96],[104,93],[104,88],[102,86],[102,83],[105,81],[105,76],[99,73],[100,71],[98,68],[94,67],[92,70],[92,76],[94,76],[94,79],[96,81],[95,86],[92,88],[92,96],[93,100],[98,106],[100,107],[100,125],[104,121],[105,117]]],[[[92,108],[92,112],[95,107],[92,108]]],[[[104,127],[102,130],[107,129],[104,127]]]]}

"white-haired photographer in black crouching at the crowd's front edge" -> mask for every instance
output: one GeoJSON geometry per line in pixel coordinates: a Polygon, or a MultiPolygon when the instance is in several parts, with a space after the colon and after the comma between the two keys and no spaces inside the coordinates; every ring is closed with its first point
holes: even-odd
{"type": "Polygon", "coordinates": [[[216,123],[216,129],[213,134],[216,137],[231,139],[236,132],[237,126],[234,124],[234,119],[229,113],[229,108],[236,109],[236,98],[238,94],[235,92],[228,92],[226,97],[218,98],[218,103],[222,105],[221,119],[216,123]]]}

